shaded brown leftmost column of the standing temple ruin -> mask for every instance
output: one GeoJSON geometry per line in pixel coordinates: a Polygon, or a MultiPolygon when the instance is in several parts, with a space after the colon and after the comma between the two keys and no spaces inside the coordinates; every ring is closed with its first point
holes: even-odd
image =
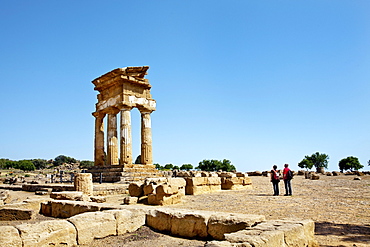
{"type": "Polygon", "coordinates": [[[94,139],[94,164],[104,165],[104,117],[105,114],[95,112],[95,139],[94,139]]]}

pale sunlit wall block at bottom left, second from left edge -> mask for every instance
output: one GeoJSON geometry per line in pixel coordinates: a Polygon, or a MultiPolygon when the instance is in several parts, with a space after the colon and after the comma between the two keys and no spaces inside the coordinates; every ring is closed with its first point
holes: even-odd
{"type": "Polygon", "coordinates": [[[37,224],[16,226],[23,247],[76,246],[76,228],[66,220],[41,221],[37,224]]]}

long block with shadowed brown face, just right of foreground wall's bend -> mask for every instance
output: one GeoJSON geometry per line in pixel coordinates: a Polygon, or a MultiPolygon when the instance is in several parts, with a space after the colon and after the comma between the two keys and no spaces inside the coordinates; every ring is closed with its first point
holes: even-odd
{"type": "Polygon", "coordinates": [[[212,212],[182,209],[155,209],[147,214],[147,225],[159,231],[185,238],[206,238],[207,222],[212,212]]]}

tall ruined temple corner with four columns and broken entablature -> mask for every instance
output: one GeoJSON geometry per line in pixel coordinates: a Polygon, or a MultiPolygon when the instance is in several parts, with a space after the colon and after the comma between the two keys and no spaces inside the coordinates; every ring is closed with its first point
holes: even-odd
{"type": "Polygon", "coordinates": [[[118,68],[92,81],[94,90],[99,92],[93,113],[95,166],[89,170],[94,181],[103,177],[106,182],[131,182],[135,177],[159,176],[152,157],[151,113],[156,109],[156,102],[150,94],[149,80],[144,78],[148,69],[148,66],[118,68]],[[132,164],[133,108],[141,114],[141,165],[132,164]]]}

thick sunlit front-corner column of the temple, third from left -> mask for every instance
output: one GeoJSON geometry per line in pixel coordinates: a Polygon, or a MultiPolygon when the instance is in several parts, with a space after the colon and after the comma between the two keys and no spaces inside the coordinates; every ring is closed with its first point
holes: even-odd
{"type": "Polygon", "coordinates": [[[132,164],[132,139],[131,139],[131,109],[121,109],[121,142],[120,142],[120,163],[132,164]]]}

